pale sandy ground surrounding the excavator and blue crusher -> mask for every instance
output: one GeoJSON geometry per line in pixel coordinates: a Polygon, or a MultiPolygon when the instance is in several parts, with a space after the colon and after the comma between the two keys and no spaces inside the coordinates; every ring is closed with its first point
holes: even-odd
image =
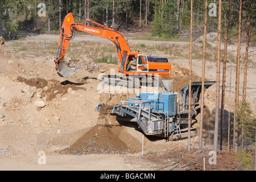
{"type": "MultiPolygon", "coordinates": [[[[84,39],[109,42],[109,40],[90,35],[77,35],[74,41],[84,39]]],[[[67,80],[57,75],[52,54],[41,53],[43,50],[34,49],[17,52],[14,46],[16,42],[22,42],[24,46],[29,46],[33,43],[44,45],[47,41],[57,42],[58,40],[59,35],[43,34],[27,36],[24,40],[6,42],[5,49],[9,53],[2,52],[2,67],[0,68],[0,114],[2,114],[0,119],[0,170],[166,169],[164,168],[166,163],[156,164],[149,159],[152,159],[153,154],[153,156],[158,156],[161,152],[175,150],[177,146],[185,147],[187,140],[166,142],[161,138],[143,137],[141,131],[135,126],[119,126],[115,117],[100,115],[95,111],[96,106],[101,102],[117,104],[121,100],[135,96],[135,93],[98,93],[97,88],[100,86],[100,81],[97,80],[98,75],[100,73],[109,74],[110,68],[116,70],[116,65],[97,63],[88,55],[82,55],[81,59],[84,60],[87,69],[82,69],[67,80]],[[100,125],[112,125],[108,136],[112,139],[116,137],[115,142],[117,145],[120,144],[119,147],[122,147],[122,150],[125,148],[132,152],[129,154],[60,154],[61,150],[72,145],[75,146],[75,143],[84,137],[84,134],[88,134],[93,127],[100,125]],[[142,138],[144,138],[144,154],[151,154],[146,159],[148,165],[144,165],[145,160],[142,157],[142,138]],[[46,154],[45,165],[40,165],[39,160],[42,157],[40,151],[46,154]]],[[[188,44],[145,40],[129,40],[129,42],[188,44]]],[[[161,54],[161,52],[154,53],[156,56],[163,56],[161,54]]],[[[171,55],[165,55],[165,57],[168,57],[172,63],[172,74],[178,77],[187,76],[188,60],[171,55]]],[[[195,63],[193,64],[193,74],[200,77],[201,61],[193,60],[193,62],[195,63]]],[[[215,68],[214,63],[207,63],[207,79],[215,80],[215,68]]],[[[234,86],[234,74],[233,69],[232,86],[234,86]]],[[[249,68],[248,97],[254,112],[256,110],[255,74],[255,69],[249,68]]],[[[229,70],[227,75],[229,75],[229,70]]],[[[212,114],[214,114],[212,109],[215,105],[214,94],[215,86],[213,85],[207,90],[208,122],[212,121],[212,114]]],[[[226,97],[229,98],[229,92],[226,97]]],[[[234,97],[233,92],[231,92],[231,97],[234,97]]],[[[228,107],[229,104],[227,103],[226,106],[228,107]]],[[[207,123],[205,126],[204,137],[205,143],[208,144],[212,144],[213,138],[211,131],[207,130],[212,126],[213,123],[207,123]]],[[[98,127],[98,130],[97,133],[91,132],[86,139],[95,139],[103,128],[98,127]]],[[[194,138],[193,144],[197,140],[197,137],[194,138]]],[[[114,151],[113,146],[110,147],[110,150],[114,151]]],[[[169,162],[175,164],[171,160],[169,162]]],[[[186,168],[180,167],[180,170],[183,169],[186,168]]]]}

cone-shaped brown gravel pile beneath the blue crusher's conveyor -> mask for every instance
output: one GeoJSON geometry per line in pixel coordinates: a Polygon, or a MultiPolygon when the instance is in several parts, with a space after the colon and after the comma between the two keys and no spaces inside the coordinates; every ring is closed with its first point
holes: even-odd
{"type": "Polygon", "coordinates": [[[115,127],[121,126],[98,124],[60,154],[133,154],[135,151],[112,132],[115,127]]]}

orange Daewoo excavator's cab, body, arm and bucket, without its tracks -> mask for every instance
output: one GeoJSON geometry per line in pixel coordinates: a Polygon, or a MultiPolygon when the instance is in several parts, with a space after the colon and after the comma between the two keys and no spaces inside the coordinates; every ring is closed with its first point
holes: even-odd
{"type": "Polygon", "coordinates": [[[59,76],[71,77],[79,72],[82,68],[69,66],[69,61],[63,61],[68,48],[69,41],[73,37],[73,31],[83,31],[88,34],[101,36],[111,40],[117,47],[119,56],[119,64],[117,65],[118,72],[124,75],[170,75],[171,64],[164,57],[152,57],[142,55],[140,52],[132,52],[123,35],[118,31],[113,30],[100,23],[93,22],[90,19],[85,19],[86,22],[92,23],[95,26],[88,26],[81,23],[75,23],[75,16],[85,19],[79,15],[69,13],[65,16],[63,25],[60,30],[60,39],[55,59],[55,67],[59,76]]]}

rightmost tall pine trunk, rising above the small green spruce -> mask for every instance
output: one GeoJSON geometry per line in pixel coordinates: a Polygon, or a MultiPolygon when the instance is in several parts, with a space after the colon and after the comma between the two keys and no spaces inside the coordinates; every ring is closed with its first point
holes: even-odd
{"type": "Polygon", "coordinates": [[[249,42],[250,42],[250,13],[251,13],[251,1],[249,2],[248,20],[247,20],[247,34],[246,34],[246,48],[245,48],[245,75],[243,76],[243,100],[246,99],[248,49],[249,49],[249,42]]]}

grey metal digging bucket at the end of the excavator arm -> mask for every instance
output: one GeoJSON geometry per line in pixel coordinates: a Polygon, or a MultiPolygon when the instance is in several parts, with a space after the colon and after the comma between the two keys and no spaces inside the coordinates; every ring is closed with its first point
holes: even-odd
{"type": "Polygon", "coordinates": [[[62,62],[59,63],[56,70],[59,76],[69,78],[79,72],[82,68],[81,65],[78,65],[77,67],[69,67],[66,62],[62,62]]]}

